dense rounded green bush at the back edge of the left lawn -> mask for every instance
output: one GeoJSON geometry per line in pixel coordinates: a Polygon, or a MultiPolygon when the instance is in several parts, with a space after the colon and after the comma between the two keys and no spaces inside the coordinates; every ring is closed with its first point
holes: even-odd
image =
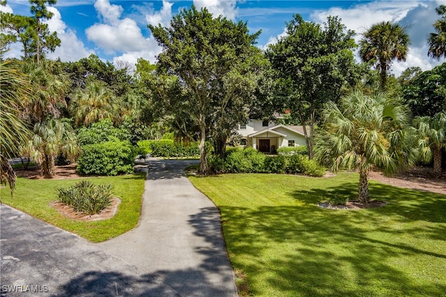
{"type": "Polygon", "coordinates": [[[77,170],[84,175],[118,175],[133,172],[137,150],[129,141],[84,145],[77,170]]]}

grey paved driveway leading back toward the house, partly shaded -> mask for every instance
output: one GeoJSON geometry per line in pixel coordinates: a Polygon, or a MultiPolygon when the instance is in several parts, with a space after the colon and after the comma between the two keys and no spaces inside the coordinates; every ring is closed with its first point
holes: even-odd
{"type": "Polygon", "coordinates": [[[0,205],[0,290],[11,286],[1,296],[15,296],[10,289],[40,289],[38,296],[236,296],[220,214],[184,175],[194,162],[151,160],[139,226],[103,243],[0,205]]]}

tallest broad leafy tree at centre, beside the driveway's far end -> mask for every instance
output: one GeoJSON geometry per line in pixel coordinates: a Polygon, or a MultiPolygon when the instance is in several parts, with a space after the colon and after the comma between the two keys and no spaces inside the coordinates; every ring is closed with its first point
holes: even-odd
{"type": "Polygon", "coordinates": [[[209,171],[205,142],[220,134],[222,125],[235,129],[247,118],[256,74],[263,63],[254,47],[260,32],[249,34],[247,24],[214,18],[206,8],[181,10],[168,28],[149,26],[162,47],[158,71],[178,78],[180,92],[169,100],[187,111],[198,128],[201,174],[209,171]],[[222,119],[221,121],[219,119],[222,119]],[[229,121],[231,120],[231,121],[229,121]]]}

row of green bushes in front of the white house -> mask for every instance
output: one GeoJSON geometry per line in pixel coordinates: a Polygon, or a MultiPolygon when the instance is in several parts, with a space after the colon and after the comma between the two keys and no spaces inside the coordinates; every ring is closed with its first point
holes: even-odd
{"type": "Polygon", "coordinates": [[[231,149],[226,152],[225,159],[212,156],[209,163],[217,173],[301,173],[314,177],[325,174],[325,168],[316,161],[309,160],[305,154],[266,156],[252,147],[245,150],[231,149]]]}

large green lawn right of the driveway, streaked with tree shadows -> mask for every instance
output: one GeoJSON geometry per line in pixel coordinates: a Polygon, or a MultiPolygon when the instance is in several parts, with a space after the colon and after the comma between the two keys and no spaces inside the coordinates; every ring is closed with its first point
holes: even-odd
{"type": "Polygon", "coordinates": [[[445,296],[446,196],[371,182],[385,207],[321,209],[358,175],[190,177],[220,208],[231,263],[254,296],[445,296]]]}

